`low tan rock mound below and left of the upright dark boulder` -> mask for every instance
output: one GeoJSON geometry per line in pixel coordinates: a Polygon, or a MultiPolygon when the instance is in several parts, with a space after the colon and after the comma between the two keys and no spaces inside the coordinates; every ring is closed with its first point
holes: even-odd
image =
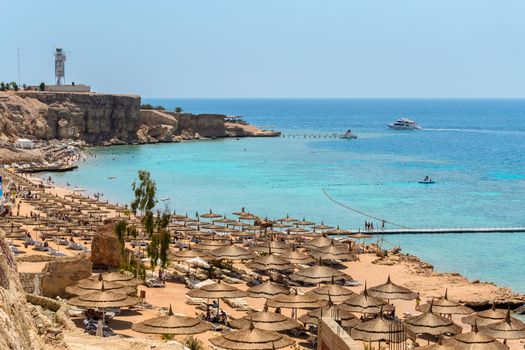
{"type": "Polygon", "coordinates": [[[41,273],[42,295],[65,297],[67,286],[91,276],[92,264],[88,255],[60,257],[46,264],[41,273]]]}

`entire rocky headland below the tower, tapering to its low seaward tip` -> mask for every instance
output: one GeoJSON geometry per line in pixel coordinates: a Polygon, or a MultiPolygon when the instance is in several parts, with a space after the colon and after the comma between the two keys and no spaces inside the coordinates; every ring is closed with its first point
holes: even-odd
{"type": "Polygon", "coordinates": [[[0,92],[0,141],[25,137],[101,145],[277,135],[228,123],[223,114],[140,110],[140,97],[133,95],[0,92]]]}

